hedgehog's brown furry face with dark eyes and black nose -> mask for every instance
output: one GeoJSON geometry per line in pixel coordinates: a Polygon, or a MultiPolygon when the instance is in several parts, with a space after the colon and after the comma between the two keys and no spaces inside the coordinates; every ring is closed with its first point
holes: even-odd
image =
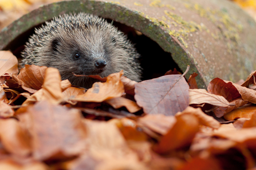
{"type": "MultiPolygon", "coordinates": [[[[104,77],[119,72],[116,63],[120,64],[128,54],[113,32],[117,33],[116,30],[94,28],[57,35],[50,41],[50,50],[46,54],[52,56],[48,67],[58,68],[62,79],[69,79],[74,85],[81,84],[86,77],[77,77],[73,73],[104,77]]],[[[120,38],[124,38],[123,35],[120,38]]]]}

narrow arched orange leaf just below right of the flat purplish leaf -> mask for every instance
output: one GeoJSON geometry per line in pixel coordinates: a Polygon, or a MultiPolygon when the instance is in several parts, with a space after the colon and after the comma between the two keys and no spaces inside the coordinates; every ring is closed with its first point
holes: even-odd
{"type": "Polygon", "coordinates": [[[199,123],[203,126],[208,126],[214,129],[218,129],[220,127],[220,123],[212,118],[212,116],[208,116],[204,114],[204,112],[200,108],[193,108],[188,106],[183,112],[179,112],[176,114],[176,118],[178,116],[184,115],[184,114],[190,114],[196,116],[198,118],[199,123]]]}

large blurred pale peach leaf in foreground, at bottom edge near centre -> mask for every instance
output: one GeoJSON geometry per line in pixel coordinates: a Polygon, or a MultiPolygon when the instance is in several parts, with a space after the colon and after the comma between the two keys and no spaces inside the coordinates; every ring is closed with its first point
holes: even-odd
{"type": "Polygon", "coordinates": [[[115,124],[86,119],[84,124],[88,129],[87,153],[101,161],[96,169],[147,169],[128,147],[115,124]]]}

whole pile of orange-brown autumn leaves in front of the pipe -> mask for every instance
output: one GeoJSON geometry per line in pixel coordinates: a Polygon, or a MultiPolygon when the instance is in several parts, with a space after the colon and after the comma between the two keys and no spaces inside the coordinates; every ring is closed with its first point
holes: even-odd
{"type": "Polygon", "coordinates": [[[0,54],[0,169],[255,167],[256,71],[242,86],[215,78],[207,91],[196,74],[136,83],[120,71],[86,90],[56,68],[17,75],[15,56],[0,54]]]}

